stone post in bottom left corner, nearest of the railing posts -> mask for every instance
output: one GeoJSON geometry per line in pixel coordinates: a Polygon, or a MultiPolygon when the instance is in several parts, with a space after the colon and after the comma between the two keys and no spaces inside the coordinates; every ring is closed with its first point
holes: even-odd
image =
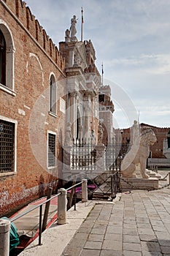
{"type": "Polygon", "coordinates": [[[0,219],[0,255],[9,256],[9,230],[10,221],[0,219]]]}

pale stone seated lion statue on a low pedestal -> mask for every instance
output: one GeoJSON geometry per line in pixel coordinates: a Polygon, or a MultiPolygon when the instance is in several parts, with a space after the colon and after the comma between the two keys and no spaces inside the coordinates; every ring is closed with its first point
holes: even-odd
{"type": "Polygon", "coordinates": [[[140,172],[142,178],[150,178],[146,173],[147,157],[150,154],[150,145],[156,142],[155,133],[152,129],[144,129],[142,134],[139,136],[138,141],[132,144],[131,150],[125,155],[120,170],[125,178],[134,178],[136,170],[136,165],[140,164],[140,172]]]}

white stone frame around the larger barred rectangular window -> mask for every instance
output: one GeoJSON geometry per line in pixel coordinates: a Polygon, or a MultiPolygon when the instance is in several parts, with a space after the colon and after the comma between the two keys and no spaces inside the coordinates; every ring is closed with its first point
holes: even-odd
{"type": "Polygon", "coordinates": [[[11,175],[15,175],[17,173],[17,129],[18,129],[18,121],[14,120],[12,118],[7,118],[5,116],[1,116],[0,115],[0,120],[2,121],[7,121],[9,123],[12,123],[15,125],[15,131],[14,131],[14,163],[13,163],[13,169],[12,171],[6,172],[6,173],[1,173],[0,170],[0,177],[4,177],[4,176],[11,176],[11,175]]]}

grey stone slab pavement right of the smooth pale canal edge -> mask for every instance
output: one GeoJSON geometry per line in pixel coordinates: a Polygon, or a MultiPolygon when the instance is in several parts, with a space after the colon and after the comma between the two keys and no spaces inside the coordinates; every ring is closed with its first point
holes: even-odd
{"type": "Polygon", "coordinates": [[[62,256],[170,256],[170,189],[96,204],[62,256]]]}

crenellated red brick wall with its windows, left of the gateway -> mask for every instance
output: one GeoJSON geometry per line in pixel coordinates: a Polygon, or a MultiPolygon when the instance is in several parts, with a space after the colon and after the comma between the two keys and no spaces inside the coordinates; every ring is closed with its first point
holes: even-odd
{"type": "Polygon", "coordinates": [[[0,215],[56,187],[65,63],[23,1],[0,2],[0,215]],[[56,157],[56,158],[55,158],[56,157]]]}

